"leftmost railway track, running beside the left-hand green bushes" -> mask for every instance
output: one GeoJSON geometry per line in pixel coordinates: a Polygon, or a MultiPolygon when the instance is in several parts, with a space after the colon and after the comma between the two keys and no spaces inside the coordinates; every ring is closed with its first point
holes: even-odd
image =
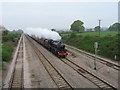
{"type": "Polygon", "coordinates": [[[21,42],[13,75],[11,88],[23,88],[23,43],[21,42]]]}

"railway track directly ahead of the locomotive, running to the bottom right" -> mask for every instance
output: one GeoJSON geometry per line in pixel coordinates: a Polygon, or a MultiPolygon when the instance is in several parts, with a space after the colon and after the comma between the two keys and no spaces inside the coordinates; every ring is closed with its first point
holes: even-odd
{"type": "Polygon", "coordinates": [[[94,74],[87,71],[83,67],[78,66],[77,64],[75,64],[74,62],[69,60],[68,58],[61,59],[61,61],[63,61],[65,64],[67,64],[68,66],[73,68],[76,72],[78,72],[80,75],[82,75],[83,77],[85,77],[86,79],[88,79],[89,81],[94,83],[100,89],[117,90],[116,87],[112,86],[111,84],[109,84],[105,80],[101,79],[100,77],[95,76],[94,74]]]}

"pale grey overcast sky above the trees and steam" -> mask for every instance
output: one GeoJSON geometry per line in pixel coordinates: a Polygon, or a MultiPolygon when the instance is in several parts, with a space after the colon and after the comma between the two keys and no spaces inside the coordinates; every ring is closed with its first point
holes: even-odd
{"type": "Polygon", "coordinates": [[[2,24],[8,29],[70,28],[82,20],[87,28],[108,27],[118,21],[117,2],[4,2],[2,24]]]}

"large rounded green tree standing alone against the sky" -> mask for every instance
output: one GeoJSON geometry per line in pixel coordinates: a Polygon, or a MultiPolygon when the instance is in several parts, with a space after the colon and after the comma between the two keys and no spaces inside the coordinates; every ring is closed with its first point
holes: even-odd
{"type": "Polygon", "coordinates": [[[85,30],[85,27],[83,26],[83,22],[80,20],[76,20],[71,24],[70,30],[73,32],[83,32],[85,30]]]}

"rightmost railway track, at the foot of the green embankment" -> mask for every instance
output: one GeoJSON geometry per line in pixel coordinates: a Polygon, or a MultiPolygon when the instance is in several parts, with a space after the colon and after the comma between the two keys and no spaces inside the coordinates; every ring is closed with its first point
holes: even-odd
{"type": "MultiPolygon", "coordinates": [[[[76,48],[71,47],[71,46],[69,46],[69,45],[66,45],[66,46],[67,46],[67,48],[70,48],[70,49],[72,49],[72,50],[74,50],[74,51],[77,51],[77,52],[79,52],[80,54],[85,55],[85,56],[87,56],[88,58],[91,58],[92,60],[95,59],[95,55],[93,55],[93,54],[90,54],[90,53],[88,53],[88,52],[85,52],[85,51],[76,49],[76,48]]],[[[69,51],[69,50],[68,50],[68,51],[69,51]]],[[[69,51],[69,52],[70,52],[70,51],[69,51]]],[[[70,53],[72,53],[72,52],[70,52],[70,53]]],[[[102,64],[105,64],[105,65],[107,65],[108,67],[111,67],[111,68],[113,68],[113,69],[115,69],[115,70],[120,71],[120,65],[117,65],[117,64],[112,63],[112,62],[110,62],[110,61],[107,61],[107,60],[105,60],[104,58],[101,58],[101,57],[99,57],[99,56],[96,56],[96,59],[97,59],[98,62],[100,62],[100,63],[102,63],[102,64]]]]}

